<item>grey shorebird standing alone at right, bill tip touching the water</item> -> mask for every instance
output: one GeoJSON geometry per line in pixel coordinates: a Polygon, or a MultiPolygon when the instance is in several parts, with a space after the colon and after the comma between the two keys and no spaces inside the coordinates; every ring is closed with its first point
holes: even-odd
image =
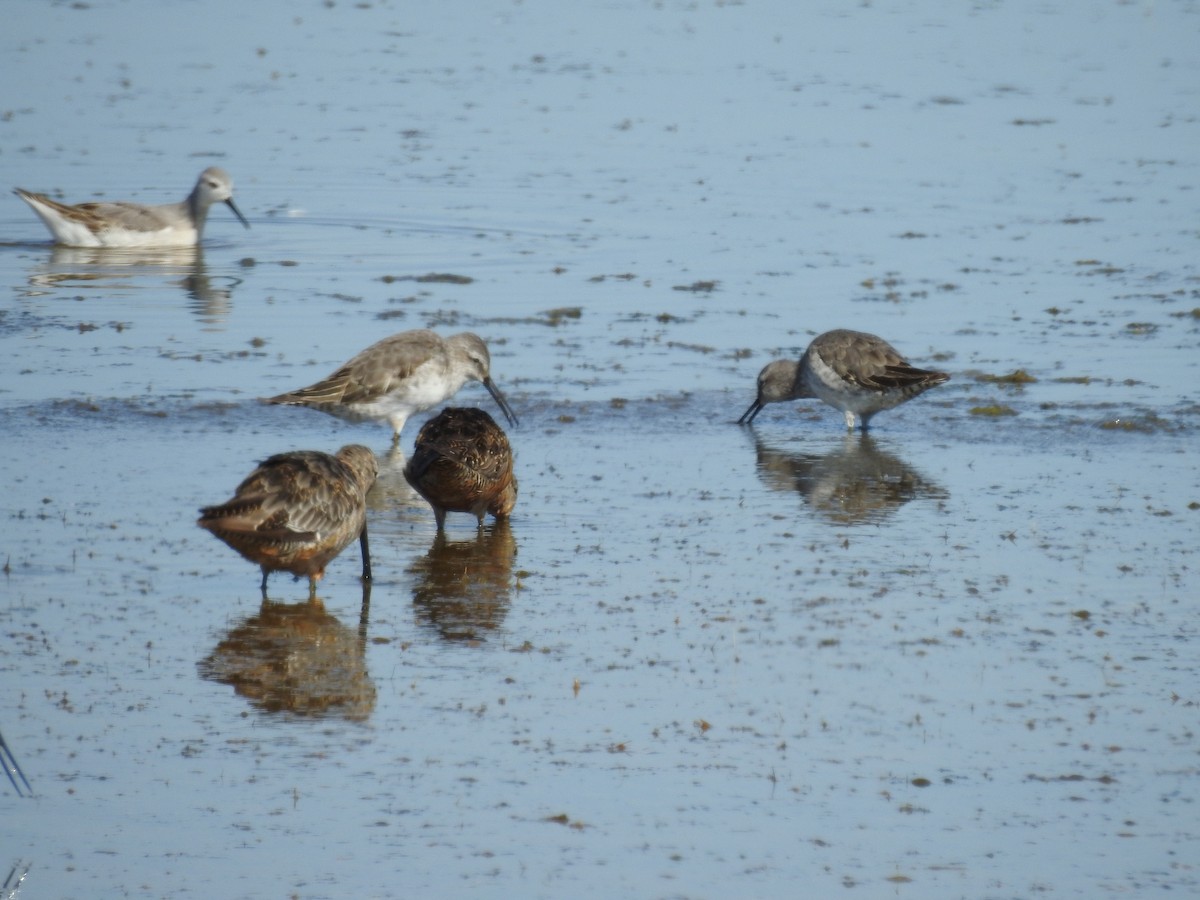
{"type": "Polygon", "coordinates": [[[866,431],[871,416],[948,382],[946,372],[916,368],[882,337],[863,331],[826,331],[797,360],[778,359],[758,373],[758,395],[738,419],[754,421],[768,403],[814,397],[840,409],[846,428],[856,419],[866,431]]]}

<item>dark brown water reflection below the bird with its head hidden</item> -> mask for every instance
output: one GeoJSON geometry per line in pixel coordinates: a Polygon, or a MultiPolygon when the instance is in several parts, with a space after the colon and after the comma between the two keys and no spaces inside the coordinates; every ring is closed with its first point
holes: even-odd
{"type": "Polygon", "coordinates": [[[445,641],[486,640],[508,614],[516,554],[506,520],[479,529],[470,540],[448,540],[439,532],[430,552],[408,568],[416,576],[416,620],[445,641]]]}

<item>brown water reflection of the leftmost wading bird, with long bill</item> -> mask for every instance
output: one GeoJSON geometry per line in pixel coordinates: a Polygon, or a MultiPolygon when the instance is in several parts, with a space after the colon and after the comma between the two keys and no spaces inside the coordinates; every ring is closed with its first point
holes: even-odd
{"type": "Polygon", "coordinates": [[[337,715],[364,721],[374,710],[376,686],[366,668],[371,586],[352,630],[313,599],[263,600],[251,616],[199,662],[203,678],[229,684],[266,713],[337,715]]]}

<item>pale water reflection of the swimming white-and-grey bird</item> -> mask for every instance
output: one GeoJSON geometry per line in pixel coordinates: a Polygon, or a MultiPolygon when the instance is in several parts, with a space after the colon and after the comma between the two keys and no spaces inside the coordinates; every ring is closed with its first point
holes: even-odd
{"type": "Polygon", "coordinates": [[[29,283],[35,290],[70,286],[112,290],[137,287],[138,276],[164,275],[179,278],[176,283],[187,295],[188,307],[209,325],[229,317],[233,289],[241,283],[241,278],[233,276],[222,276],[214,283],[200,247],[54,247],[42,270],[29,276],[29,283]]]}

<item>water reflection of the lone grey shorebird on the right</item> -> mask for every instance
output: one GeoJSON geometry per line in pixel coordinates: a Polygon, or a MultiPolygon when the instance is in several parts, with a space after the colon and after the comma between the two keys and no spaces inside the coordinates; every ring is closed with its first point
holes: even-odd
{"type": "Polygon", "coordinates": [[[833,452],[803,454],[767,446],[755,437],[758,478],[773,491],[796,491],[834,524],[881,522],[913,499],[949,493],[869,434],[847,434],[833,452]]]}

